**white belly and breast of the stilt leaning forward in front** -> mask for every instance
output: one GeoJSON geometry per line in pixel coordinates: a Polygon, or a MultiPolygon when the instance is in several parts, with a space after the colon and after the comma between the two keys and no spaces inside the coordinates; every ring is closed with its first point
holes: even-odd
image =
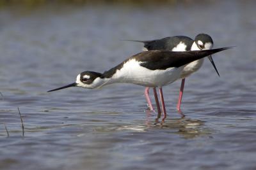
{"type": "Polygon", "coordinates": [[[184,67],[171,67],[165,70],[150,70],[140,66],[135,59],[127,61],[116,71],[109,83],[133,83],[145,87],[163,87],[180,78],[184,67]]]}

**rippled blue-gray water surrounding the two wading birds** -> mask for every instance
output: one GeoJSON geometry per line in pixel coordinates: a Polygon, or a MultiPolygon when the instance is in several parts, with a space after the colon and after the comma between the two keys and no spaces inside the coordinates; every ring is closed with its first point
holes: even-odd
{"type": "Polygon", "coordinates": [[[0,169],[256,169],[256,3],[196,2],[2,8],[0,169]],[[180,81],[163,88],[163,124],[136,85],[46,92],[140,52],[120,39],[200,32],[236,48],[213,56],[220,77],[205,60],[186,80],[184,118],[180,81]]]}

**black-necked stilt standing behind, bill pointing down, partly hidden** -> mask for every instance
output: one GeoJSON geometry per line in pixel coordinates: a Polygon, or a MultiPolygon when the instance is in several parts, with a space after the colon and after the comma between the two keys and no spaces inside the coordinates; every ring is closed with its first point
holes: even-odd
{"type": "MultiPolygon", "coordinates": [[[[154,39],[151,41],[138,41],[138,40],[128,40],[128,41],[137,41],[140,43],[144,43],[143,50],[171,50],[173,52],[189,51],[189,50],[209,50],[213,46],[212,38],[208,34],[198,34],[195,37],[195,41],[187,36],[172,36],[172,37],[166,37],[162,39],[154,39]]],[[[208,59],[211,61],[212,66],[214,67],[217,74],[220,76],[214,64],[214,61],[212,60],[211,55],[208,56],[208,59]]],[[[185,78],[190,74],[194,73],[195,71],[198,71],[198,69],[200,69],[200,67],[202,66],[203,62],[204,62],[204,59],[191,62],[190,64],[184,67],[182,73],[180,74],[180,78],[182,79],[182,81],[180,85],[179,99],[177,103],[178,111],[180,111],[180,104],[182,101],[185,78]]],[[[156,92],[156,89],[153,89],[153,90],[154,90],[154,97],[156,99],[157,110],[159,111],[159,102],[157,98],[157,92],[156,92]]],[[[145,97],[150,110],[154,110],[149,97],[149,87],[146,87],[145,89],[145,97]]]]}

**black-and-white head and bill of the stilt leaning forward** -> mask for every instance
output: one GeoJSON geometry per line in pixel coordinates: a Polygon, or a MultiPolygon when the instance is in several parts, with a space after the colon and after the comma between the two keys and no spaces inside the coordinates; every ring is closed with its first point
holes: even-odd
{"type": "Polygon", "coordinates": [[[66,89],[68,87],[83,87],[85,89],[97,89],[105,85],[107,82],[108,80],[106,78],[103,78],[101,73],[93,71],[84,71],[77,75],[75,83],[71,83],[69,85],[65,85],[57,89],[49,90],[48,92],[66,89]]]}

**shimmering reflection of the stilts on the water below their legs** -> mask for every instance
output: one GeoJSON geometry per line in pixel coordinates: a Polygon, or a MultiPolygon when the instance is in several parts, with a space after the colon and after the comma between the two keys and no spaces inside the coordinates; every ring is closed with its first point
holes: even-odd
{"type": "MultiPolygon", "coordinates": [[[[129,132],[164,132],[167,135],[178,134],[181,138],[191,139],[199,136],[210,136],[212,129],[209,129],[202,120],[188,118],[184,113],[179,112],[177,117],[164,117],[161,113],[145,111],[146,117],[131,121],[111,122],[111,124],[100,125],[97,131],[129,131],[129,132]]],[[[141,113],[143,115],[143,113],[141,113]]]]}

